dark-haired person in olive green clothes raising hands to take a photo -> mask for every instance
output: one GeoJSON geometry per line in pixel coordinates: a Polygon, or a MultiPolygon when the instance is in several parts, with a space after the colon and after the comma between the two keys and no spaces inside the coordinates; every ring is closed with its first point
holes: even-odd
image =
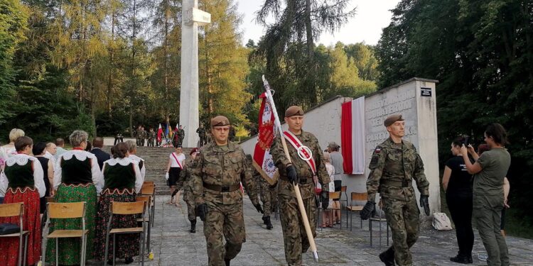
{"type": "Polygon", "coordinates": [[[504,148],[507,143],[505,128],[499,123],[491,123],[485,130],[485,143],[490,150],[479,157],[470,145],[468,149],[461,146],[465,167],[474,174],[473,217],[488,253],[487,264],[510,265],[507,243],[500,233],[505,205],[503,183],[511,164],[511,155],[504,148]],[[468,153],[476,160],[474,164],[468,160],[468,153]]]}

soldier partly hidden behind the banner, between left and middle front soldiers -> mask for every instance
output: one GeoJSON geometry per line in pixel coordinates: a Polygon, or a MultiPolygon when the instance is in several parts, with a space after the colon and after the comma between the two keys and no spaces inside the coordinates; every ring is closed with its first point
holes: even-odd
{"type": "Polygon", "coordinates": [[[272,211],[276,209],[278,203],[278,192],[277,192],[277,182],[276,184],[270,184],[268,181],[262,177],[262,175],[257,172],[252,162],[252,155],[247,154],[246,158],[249,163],[249,169],[252,171],[254,180],[257,182],[257,187],[261,195],[261,202],[263,203],[263,223],[266,225],[266,229],[271,230],[274,228],[270,221],[270,215],[272,211]]]}

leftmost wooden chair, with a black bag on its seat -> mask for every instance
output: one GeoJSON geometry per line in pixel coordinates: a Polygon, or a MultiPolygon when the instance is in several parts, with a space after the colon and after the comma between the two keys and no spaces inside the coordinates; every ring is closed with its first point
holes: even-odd
{"type": "Polygon", "coordinates": [[[30,231],[23,230],[24,203],[16,202],[11,204],[0,204],[0,217],[13,216],[18,216],[18,225],[20,226],[21,231],[18,233],[10,233],[9,235],[0,235],[0,238],[18,237],[18,266],[26,265],[26,255],[28,253],[28,235],[30,231]],[[24,245],[22,245],[22,238],[24,238],[24,245]],[[22,257],[22,250],[24,250],[24,257],[22,257]]]}

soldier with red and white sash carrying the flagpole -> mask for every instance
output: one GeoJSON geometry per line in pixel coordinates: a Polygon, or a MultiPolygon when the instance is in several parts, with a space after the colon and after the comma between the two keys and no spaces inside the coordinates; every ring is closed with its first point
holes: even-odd
{"type": "MultiPolygon", "coordinates": [[[[329,203],[327,184],[329,184],[330,179],[328,173],[325,171],[323,152],[320,145],[318,145],[318,140],[315,135],[301,129],[303,126],[303,110],[301,107],[289,107],[285,111],[285,122],[289,126],[289,131],[296,135],[296,138],[312,152],[313,160],[316,164],[318,181],[321,184],[326,184],[323,186],[324,189],[321,194],[322,207],[325,209],[329,203]]],[[[313,236],[315,236],[316,198],[315,184],[313,182],[314,174],[308,163],[298,156],[298,152],[294,146],[287,142],[287,148],[291,156],[291,163],[289,163],[289,160],[285,156],[280,136],[274,138],[270,153],[274,164],[279,170],[278,204],[281,216],[281,228],[284,235],[285,259],[289,265],[301,265],[302,253],[308,250],[310,244],[305,227],[303,226],[303,221],[301,221],[302,217],[298,209],[298,201],[296,201],[293,184],[298,184],[300,187],[309,225],[311,226],[313,236]]]]}

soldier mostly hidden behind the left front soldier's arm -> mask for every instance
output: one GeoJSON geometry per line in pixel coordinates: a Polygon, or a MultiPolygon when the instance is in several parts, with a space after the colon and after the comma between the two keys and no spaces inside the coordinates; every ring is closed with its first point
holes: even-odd
{"type": "Polygon", "coordinates": [[[190,221],[190,233],[196,233],[196,214],[195,202],[193,195],[193,178],[190,175],[191,169],[196,166],[196,155],[198,148],[190,151],[190,158],[185,161],[185,168],[180,172],[180,177],[176,184],[176,190],[180,191],[183,188],[183,200],[187,204],[187,214],[190,221]]]}

